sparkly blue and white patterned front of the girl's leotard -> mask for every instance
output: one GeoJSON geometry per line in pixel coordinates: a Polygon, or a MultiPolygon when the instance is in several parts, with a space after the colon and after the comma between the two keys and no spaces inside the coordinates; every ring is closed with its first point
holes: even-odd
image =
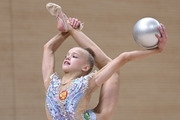
{"type": "Polygon", "coordinates": [[[92,78],[92,74],[82,76],[73,80],[66,91],[68,95],[66,99],[60,100],[60,84],[61,79],[57,73],[50,76],[51,82],[46,94],[46,107],[53,120],[81,120],[83,115],[76,113],[76,108],[88,89],[88,81],[92,78]]]}

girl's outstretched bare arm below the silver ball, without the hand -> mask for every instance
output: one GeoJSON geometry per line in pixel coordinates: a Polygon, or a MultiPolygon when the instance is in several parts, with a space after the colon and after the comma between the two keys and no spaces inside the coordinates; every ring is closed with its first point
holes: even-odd
{"type": "Polygon", "coordinates": [[[160,51],[158,49],[124,52],[120,54],[118,57],[116,57],[112,62],[108,63],[100,71],[98,71],[96,75],[94,75],[95,83],[98,86],[100,86],[106,80],[108,80],[114,72],[116,72],[118,69],[120,69],[124,64],[126,64],[129,61],[145,58],[159,52],[160,51]]]}

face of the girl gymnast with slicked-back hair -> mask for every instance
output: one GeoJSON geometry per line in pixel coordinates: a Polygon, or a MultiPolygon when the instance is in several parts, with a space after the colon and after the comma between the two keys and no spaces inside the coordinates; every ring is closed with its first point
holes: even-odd
{"type": "Polygon", "coordinates": [[[82,48],[75,47],[68,51],[62,64],[65,73],[77,72],[87,69],[88,53],[82,48]]]}

